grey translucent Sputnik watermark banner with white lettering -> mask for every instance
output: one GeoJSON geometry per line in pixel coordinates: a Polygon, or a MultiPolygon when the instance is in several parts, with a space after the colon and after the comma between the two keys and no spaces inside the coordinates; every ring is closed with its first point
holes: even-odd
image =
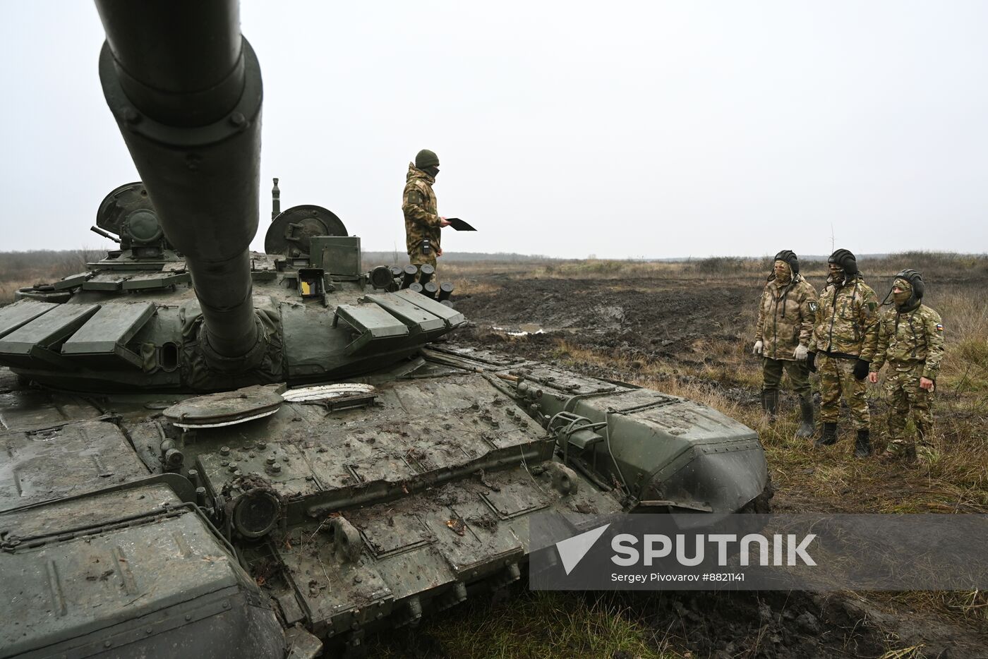
{"type": "Polygon", "coordinates": [[[984,515],[536,514],[534,589],[984,590],[984,515]]]}

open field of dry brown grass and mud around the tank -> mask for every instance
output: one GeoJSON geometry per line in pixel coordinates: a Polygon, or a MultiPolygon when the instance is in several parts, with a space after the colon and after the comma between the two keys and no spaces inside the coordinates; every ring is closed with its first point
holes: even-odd
{"type": "MultiPolygon", "coordinates": [[[[0,254],[0,301],[79,272],[93,255],[0,254]]],[[[366,263],[366,266],[377,265],[366,263]]],[[[793,433],[795,398],[770,425],[751,355],[769,259],[445,262],[457,342],[630,381],[710,405],[756,429],[780,512],[988,513],[988,256],[909,253],[860,263],[879,296],[910,267],[944,318],[936,429],[914,466],[852,454],[850,424],[817,449],[793,433]],[[518,331],[529,334],[515,336],[518,331]]],[[[802,264],[818,290],[825,264],[802,264]]],[[[815,383],[814,383],[815,385],[815,383]]],[[[870,389],[882,448],[885,404],[870,389]]],[[[414,630],[371,639],[387,657],[984,657],[988,597],[967,593],[535,594],[520,586],[414,630]]]]}

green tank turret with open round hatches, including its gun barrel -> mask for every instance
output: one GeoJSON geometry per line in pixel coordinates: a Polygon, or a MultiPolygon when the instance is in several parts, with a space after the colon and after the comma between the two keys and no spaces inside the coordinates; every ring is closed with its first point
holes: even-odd
{"type": "Polygon", "coordinates": [[[363,272],[331,210],[282,211],[277,179],[267,253],[249,251],[261,74],[236,3],[98,7],[104,92],[142,180],[97,213],[119,250],[0,310],[0,365],[75,390],[301,384],[393,364],[464,321],[363,272]]]}

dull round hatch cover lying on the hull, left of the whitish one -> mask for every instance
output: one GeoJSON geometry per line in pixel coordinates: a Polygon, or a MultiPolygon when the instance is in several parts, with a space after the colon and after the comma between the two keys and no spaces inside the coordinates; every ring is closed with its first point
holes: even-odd
{"type": "Polygon", "coordinates": [[[219,428],[271,416],[285,401],[281,384],[245,386],[188,398],[162,414],[179,428],[219,428]]]}

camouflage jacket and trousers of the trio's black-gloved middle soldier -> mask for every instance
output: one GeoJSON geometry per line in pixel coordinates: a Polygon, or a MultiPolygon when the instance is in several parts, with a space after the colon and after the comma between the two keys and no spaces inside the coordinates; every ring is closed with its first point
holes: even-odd
{"type": "Polygon", "coordinates": [[[820,374],[820,421],[836,424],[841,396],[854,426],[867,430],[866,382],[854,375],[856,362],[870,362],[878,338],[878,298],[860,275],[843,286],[830,284],[820,295],[810,352],[820,374]]]}

